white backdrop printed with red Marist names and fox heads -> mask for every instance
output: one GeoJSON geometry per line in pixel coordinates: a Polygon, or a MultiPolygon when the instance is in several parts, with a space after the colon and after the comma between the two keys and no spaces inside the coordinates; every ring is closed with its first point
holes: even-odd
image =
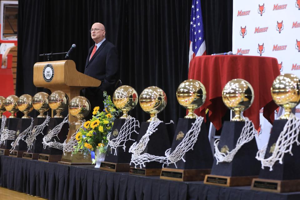
{"type": "MultiPolygon", "coordinates": [[[[232,52],[277,58],[281,73],[300,78],[300,0],[233,0],[232,52]]],[[[259,149],[268,142],[272,128],[262,110],[260,123],[259,149]]]]}

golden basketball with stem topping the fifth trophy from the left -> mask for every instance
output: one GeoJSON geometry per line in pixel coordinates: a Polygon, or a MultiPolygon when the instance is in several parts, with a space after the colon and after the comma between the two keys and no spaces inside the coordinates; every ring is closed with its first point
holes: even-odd
{"type": "Polygon", "coordinates": [[[68,105],[69,97],[63,91],[55,91],[49,97],[49,107],[56,112],[53,118],[63,118],[60,113],[68,108],[68,105]]]}

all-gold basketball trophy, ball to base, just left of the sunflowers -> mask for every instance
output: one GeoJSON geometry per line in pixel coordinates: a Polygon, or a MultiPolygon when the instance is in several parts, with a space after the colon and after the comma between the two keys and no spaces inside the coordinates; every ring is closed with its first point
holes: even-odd
{"type": "MultiPolygon", "coordinates": [[[[69,111],[71,115],[77,119],[77,122],[71,123],[67,142],[69,142],[69,139],[73,136],[73,134],[75,134],[76,131],[82,126],[83,118],[88,116],[88,113],[91,111],[91,104],[87,98],[77,96],[70,101],[69,111]]],[[[87,158],[84,158],[83,154],[81,153],[76,153],[72,155],[72,152],[63,152],[62,160],[58,163],[66,165],[84,165],[91,164],[92,162],[90,154],[88,154],[87,158]]]]}

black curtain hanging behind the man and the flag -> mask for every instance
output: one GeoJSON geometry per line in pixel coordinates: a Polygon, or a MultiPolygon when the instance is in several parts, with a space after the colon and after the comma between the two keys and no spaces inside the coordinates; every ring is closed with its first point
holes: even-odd
{"type": "MultiPolygon", "coordinates": [[[[232,0],[201,2],[207,53],[231,50],[232,0]]],[[[102,22],[107,40],[118,49],[123,85],[138,94],[149,86],[162,88],[168,103],[158,117],[176,122],[185,115],[176,90],[188,74],[191,6],[191,0],[19,0],[16,95],[44,91],[32,81],[34,63],[46,61],[38,54],[66,52],[74,43],[70,59],[83,72],[94,43],[89,29],[102,22]]],[[[140,106],[130,115],[140,121],[149,118],[140,106]]]]}

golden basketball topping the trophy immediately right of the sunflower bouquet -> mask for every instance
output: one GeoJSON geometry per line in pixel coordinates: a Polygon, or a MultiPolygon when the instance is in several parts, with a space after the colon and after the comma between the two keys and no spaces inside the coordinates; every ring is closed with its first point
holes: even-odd
{"type": "Polygon", "coordinates": [[[123,112],[120,119],[126,119],[128,118],[128,112],[138,104],[138,93],[128,85],[120,86],[113,93],[113,104],[123,112]]]}

